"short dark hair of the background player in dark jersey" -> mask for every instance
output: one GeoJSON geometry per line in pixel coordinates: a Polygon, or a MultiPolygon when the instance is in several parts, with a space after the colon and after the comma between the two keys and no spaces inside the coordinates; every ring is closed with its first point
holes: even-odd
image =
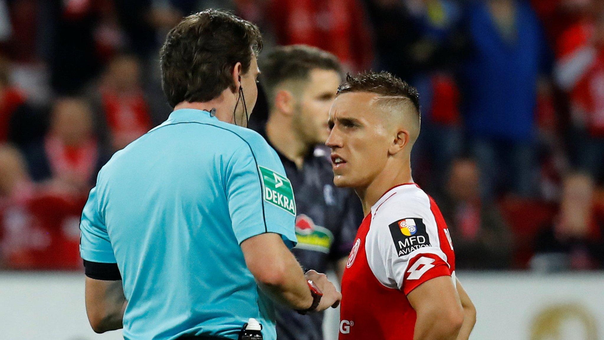
{"type": "Polygon", "coordinates": [[[260,79],[268,96],[269,106],[274,104],[275,93],[286,82],[305,82],[315,69],[342,73],[342,66],[333,54],[308,45],[275,47],[259,60],[260,79]]]}

